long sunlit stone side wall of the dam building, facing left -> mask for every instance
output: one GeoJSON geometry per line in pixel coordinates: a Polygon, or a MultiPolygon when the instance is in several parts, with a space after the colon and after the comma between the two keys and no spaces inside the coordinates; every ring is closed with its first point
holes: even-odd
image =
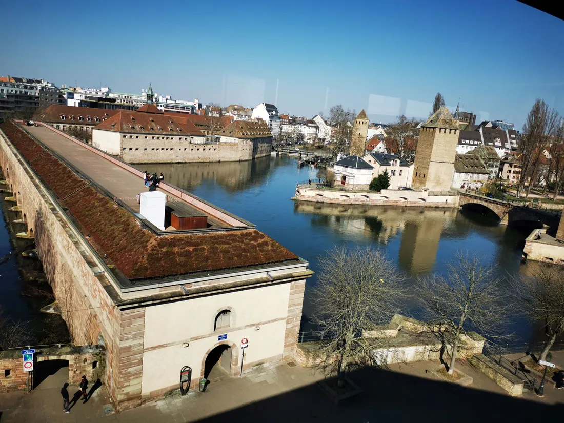
{"type": "MultiPolygon", "coordinates": [[[[120,312],[104,289],[104,285],[111,285],[111,282],[100,272],[100,267],[95,266],[96,258],[80,232],[59,212],[49,191],[1,131],[0,167],[12,192],[20,192],[17,205],[25,215],[28,230],[33,229],[39,259],[63,310],[62,317],[73,343],[103,343],[108,351],[103,381],[109,381],[111,369],[114,375],[118,372],[113,357],[120,327],[120,312]]],[[[115,390],[117,384],[113,387],[115,390]]],[[[116,398],[115,392],[112,398],[116,398]]]]}

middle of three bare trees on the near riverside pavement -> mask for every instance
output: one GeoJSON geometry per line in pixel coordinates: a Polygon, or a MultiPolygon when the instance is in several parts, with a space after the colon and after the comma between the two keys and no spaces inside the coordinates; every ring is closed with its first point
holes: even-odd
{"type": "Polygon", "coordinates": [[[448,373],[455,369],[461,335],[472,330],[490,340],[503,337],[509,320],[509,303],[501,289],[503,278],[492,266],[482,264],[477,254],[459,252],[447,263],[446,275],[429,275],[417,280],[425,319],[438,328],[444,343],[452,346],[448,373]]]}

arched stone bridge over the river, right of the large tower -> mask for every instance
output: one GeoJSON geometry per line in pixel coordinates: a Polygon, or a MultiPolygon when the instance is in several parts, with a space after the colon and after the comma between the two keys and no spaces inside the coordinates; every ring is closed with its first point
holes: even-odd
{"type": "Polygon", "coordinates": [[[478,195],[469,194],[466,192],[460,193],[459,206],[464,207],[470,204],[482,205],[493,213],[497,214],[501,224],[512,225],[517,222],[530,222],[536,224],[539,228],[543,224],[550,227],[551,230],[556,231],[560,221],[561,214],[557,211],[540,210],[523,205],[522,202],[510,202],[496,199],[488,199],[478,195]]]}

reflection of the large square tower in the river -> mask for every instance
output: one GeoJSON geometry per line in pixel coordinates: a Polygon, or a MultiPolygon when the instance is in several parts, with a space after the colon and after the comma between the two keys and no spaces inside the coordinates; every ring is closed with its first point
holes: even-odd
{"type": "Polygon", "coordinates": [[[425,212],[420,219],[406,222],[403,230],[399,264],[412,275],[429,272],[437,257],[446,218],[442,213],[432,217],[429,214],[433,213],[425,212]]]}

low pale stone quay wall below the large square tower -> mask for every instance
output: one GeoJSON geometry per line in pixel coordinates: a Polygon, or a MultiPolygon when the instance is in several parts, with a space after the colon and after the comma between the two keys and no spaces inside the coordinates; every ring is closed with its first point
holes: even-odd
{"type": "Polygon", "coordinates": [[[325,188],[321,184],[298,184],[292,200],[328,202],[332,204],[369,204],[433,208],[458,208],[459,196],[429,191],[346,191],[325,188]]]}

